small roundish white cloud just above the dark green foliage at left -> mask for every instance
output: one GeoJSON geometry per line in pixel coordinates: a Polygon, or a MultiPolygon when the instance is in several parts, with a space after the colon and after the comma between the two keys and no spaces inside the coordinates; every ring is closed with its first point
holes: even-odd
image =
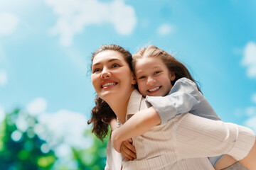
{"type": "Polygon", "coordinates": [[[38,115],[46,111],[47,101],[44,98],[36,98],[26,106],[28,113],[31,115],[38,115]]]}

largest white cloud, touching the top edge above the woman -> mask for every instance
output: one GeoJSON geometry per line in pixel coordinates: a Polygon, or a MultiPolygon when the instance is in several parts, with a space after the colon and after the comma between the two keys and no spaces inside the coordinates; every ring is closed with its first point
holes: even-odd
{"type": "Polygon", "coordinates": [[[64,46],[71,45],[73,36],[92,24],[112,23],[117,33],[129,35],[137,23],[134,8],[124,4],[123,0],[109,4],[97,0],[45,1],[59,16],[50,33],[60,34],[60,43],[64,46]]]}

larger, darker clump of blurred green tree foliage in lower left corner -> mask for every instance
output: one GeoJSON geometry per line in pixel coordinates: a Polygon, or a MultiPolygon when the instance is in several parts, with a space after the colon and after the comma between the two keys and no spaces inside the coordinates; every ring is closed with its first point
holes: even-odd
{"type": "Polygon", "coordinates": [[[0,164],[6,170],[50,170],[53,166],[55,154],[53,151],[42,152],[46,143],[34,132],[36,119],[16,109],[6,115],[1,123],[0,164]],[[23,116],[26,131],[17,128],[17,120],[23,116]]]}

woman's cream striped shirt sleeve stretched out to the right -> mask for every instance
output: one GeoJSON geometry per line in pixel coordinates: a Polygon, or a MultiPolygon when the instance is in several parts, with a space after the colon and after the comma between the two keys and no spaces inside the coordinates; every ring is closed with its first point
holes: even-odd
{"type": "Polygon", "coordinates": [[[178,115],[176,148],[180,157],[215,157],[229,154],[237,160],[247,156],[255,143],[250,128],[190,113],[178,115]]]}

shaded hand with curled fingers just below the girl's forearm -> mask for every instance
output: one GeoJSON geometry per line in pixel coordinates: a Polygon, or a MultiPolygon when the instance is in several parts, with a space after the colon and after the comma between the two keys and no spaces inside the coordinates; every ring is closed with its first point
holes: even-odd
{"type": "Polygon", "coordinates": [[[136,159],[136,149],[132,146],[132,138],[125,140],[121,145],[121,154],[127,161],[136,159]]]}

